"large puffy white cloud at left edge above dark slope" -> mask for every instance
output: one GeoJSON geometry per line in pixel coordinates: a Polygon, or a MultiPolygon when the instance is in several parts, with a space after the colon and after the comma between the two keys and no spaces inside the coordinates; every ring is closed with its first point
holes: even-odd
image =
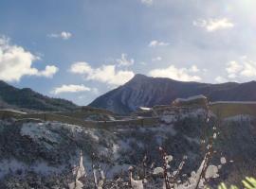
{"type": "Polygon", "coordinates": [[[32,67],[33,61],[39,60],[22,46],[9,43],[9,39],[0,37],[0,79],[19,81],[24,76],[52,77],[58,72],[54,65],[47,65],[39,71],[32,67]]]}

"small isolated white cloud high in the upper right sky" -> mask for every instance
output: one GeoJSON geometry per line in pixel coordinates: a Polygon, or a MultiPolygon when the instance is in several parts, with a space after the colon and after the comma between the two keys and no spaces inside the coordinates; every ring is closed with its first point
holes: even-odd
{"type": "Polygon", "coordinates": [[[193,25],[203,27],[209,32],[213,32],[221,29],[229,29],[234,26],[234,24],[231,21],[229,21],[228,18],[209,19],[209,20],[199,19],[197,21],[194,21],[193,25]]]}

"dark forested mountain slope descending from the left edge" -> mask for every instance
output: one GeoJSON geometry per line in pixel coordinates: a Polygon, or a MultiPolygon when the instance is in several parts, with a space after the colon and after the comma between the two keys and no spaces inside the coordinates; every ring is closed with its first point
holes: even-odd
{"type": "Polygon", "coordinates": [[[19,108],[34,111],[70,111],[78,106],[59,98],[36,93],[29,88],[18,89],[0,81],[0,108],[19,108]]]}

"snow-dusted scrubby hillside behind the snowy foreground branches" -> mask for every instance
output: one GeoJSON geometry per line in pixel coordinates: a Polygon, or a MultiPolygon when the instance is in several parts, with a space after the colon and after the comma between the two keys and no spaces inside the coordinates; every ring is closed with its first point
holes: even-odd
{"type": "MultiPolygon", "coordinates": [[[[92,178],[92,162],[101,164],[108,181],[127,180],[130,165],[141,167],[143,157],[148,164],[161,163],[158,147],[174,156],[176,167],[184,155],[188,161],[184,174],[190,175],[202,162],[201,140],[218,123],[211,114],[206,125],[204,109],[180,109],[159,114],[159,124],[119,126],[112,129],[86,128],[40,120],[5,119],[0,122],[0,188],[68,188],[72,167],[83,164],[92,178]]],[[[236,183],[245,175],[255,175],[255,117],[238,115],[222,121],[212,160],[220,157],[228,163],[221,169],[218,181],[236,183]]],[[[214,184],[214,183],[212,183],[214,184]]],[[[91,186],[92,187],[92,186],[91,186]]],[[[87,185],[87,188],[91,188],[87,185]]]]}

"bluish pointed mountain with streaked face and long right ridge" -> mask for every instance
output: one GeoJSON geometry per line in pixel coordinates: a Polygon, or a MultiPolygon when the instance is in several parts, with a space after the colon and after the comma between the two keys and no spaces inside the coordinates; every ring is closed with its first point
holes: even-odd
{"type": "Polygon", "coordinates": [[[177,97],[204,94],[210,101],[256,100],[256,82],[210,84],[136,75],[130,81],[96,98],[89,106],[125,114],[138,107],[170,105],[177,97]]]}

